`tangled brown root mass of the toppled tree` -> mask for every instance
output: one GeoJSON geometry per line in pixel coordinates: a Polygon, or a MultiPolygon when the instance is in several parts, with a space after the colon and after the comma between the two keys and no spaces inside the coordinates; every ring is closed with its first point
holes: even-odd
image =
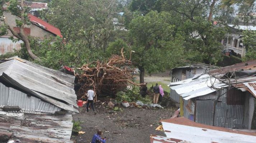
{"type": "Polygon", "coordinates": [[[112,55],[107,62],[94,61],[83,65],[80,68],[83,74],[76,75],[75,80],[78,99],[87,98],[86,93],[90,86],[94,88],[96,95],[109,96],[115,96],[118,91],[125,90],[128,83],[139,86],[132,82],[134,70],[131,65],[132,62],[124,57],[122,51],[121,56],[112,55]]]}

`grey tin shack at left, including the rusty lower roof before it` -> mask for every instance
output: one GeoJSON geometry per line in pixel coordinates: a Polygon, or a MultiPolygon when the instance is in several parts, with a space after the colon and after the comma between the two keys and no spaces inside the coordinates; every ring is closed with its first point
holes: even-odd
{"type": "Polygon", "coordinates": [[[73,143],[74,79],[18,57],[1,63],[0,135],[27,143],[73,143]]]}

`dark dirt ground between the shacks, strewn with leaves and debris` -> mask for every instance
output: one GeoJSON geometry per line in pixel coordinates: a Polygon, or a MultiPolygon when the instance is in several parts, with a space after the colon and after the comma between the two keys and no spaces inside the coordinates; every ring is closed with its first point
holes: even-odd
{"type": "Polygon", "coordinates": [[[96,104],[97,114],[85,108],[80,108],[80,114],[74,114],[75,121],[82,121],[81,127],[85,134],[78,134],[72,139],[75,143],[90,143],[97,129],[103,131],[102,137],[107,137],[107,143],[149,143],[150,134],[165,136],[164,132],[155,131],[161,119],[170,118],[175,109],[148,109],[121,107],[122,111],[99,108],[96,104]]]}

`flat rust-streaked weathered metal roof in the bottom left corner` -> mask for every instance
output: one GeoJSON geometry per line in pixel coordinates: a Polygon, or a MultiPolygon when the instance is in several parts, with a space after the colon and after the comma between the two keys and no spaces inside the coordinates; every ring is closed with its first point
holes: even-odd
{"type": "Polygon", "coordinates": [[[13,133],[23,143],[73,143],[72,115],[26,114],[0,111],[0,132],[13,133]]]}

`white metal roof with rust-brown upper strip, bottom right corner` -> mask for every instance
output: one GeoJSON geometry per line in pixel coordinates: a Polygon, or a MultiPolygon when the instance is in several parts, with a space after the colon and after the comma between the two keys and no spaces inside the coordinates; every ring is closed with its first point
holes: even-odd
{"type": "Polygon", "coordinates": [[[256,141],[255,131],[246,132],[209,126],[195,123],[184,117],[166,119],[161,122],[167,138],[179,141],[191,143],[253,143],[256,141]]]}

